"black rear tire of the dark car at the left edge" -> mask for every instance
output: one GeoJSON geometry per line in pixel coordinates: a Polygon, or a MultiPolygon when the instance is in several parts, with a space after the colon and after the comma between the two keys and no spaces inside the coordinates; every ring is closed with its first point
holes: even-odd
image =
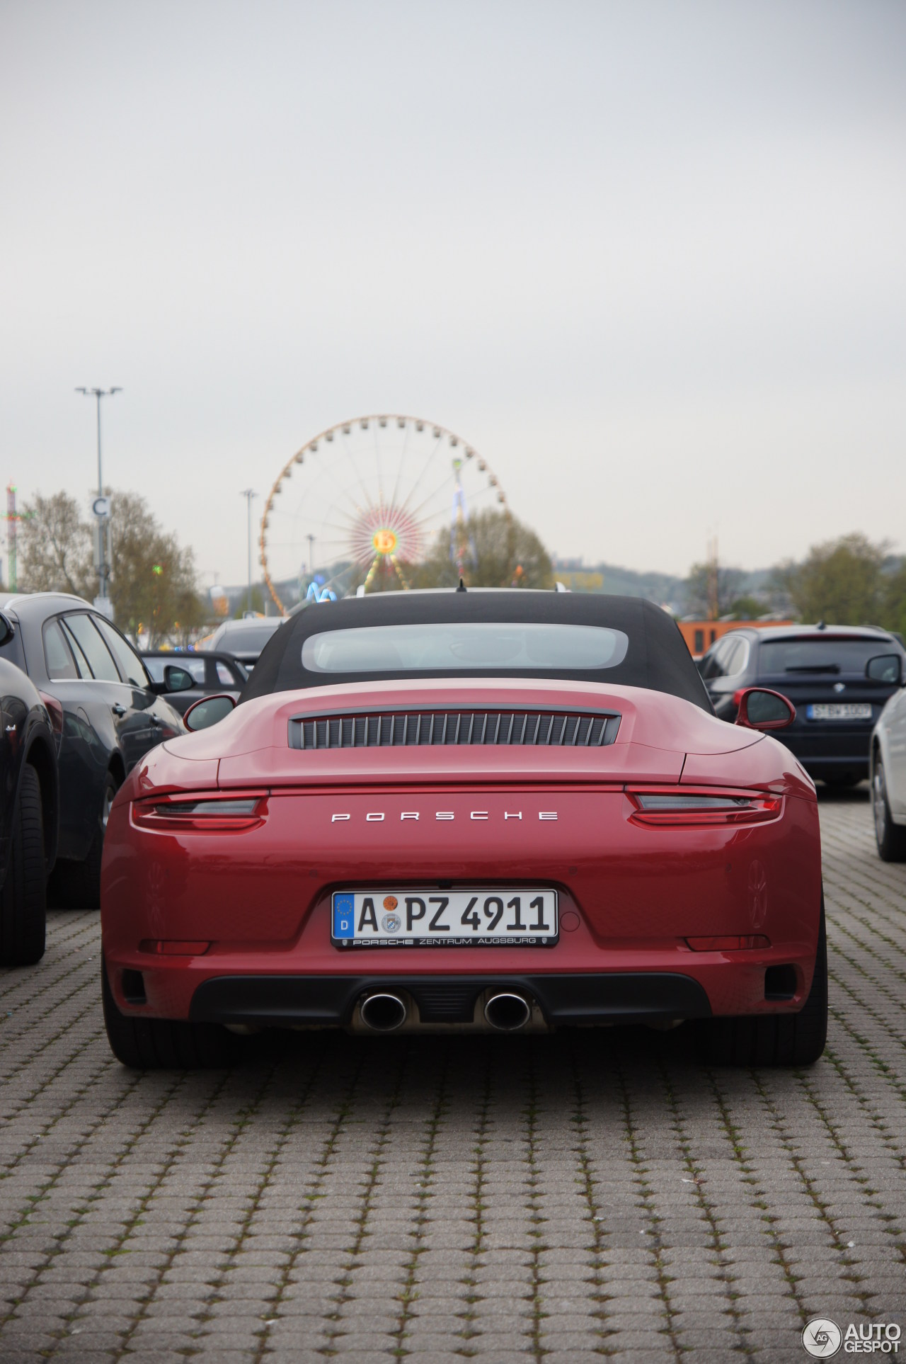
{"type": "Polygon", "coordinates": [[[0,964],[31,966],[41,960],[46,910],[41,783],[35,769],[26,764],[0,898],[0,964]]]}

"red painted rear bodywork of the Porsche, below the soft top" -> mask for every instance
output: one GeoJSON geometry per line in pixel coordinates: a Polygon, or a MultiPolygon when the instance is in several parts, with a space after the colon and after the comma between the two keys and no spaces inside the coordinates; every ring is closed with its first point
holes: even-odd
{"type": "Polygon", "coordinates": [[[815,787],[770,735],[642,687],[413,681],[279,692],[151,750],[110,813],[101,918],[113,997],[136,1016],[187,1019],[202,982],[233,975],[500,982],[527,973],[678,974],[699,982],[713,1013],[757,1015],[802,1007],[820,895],[815,787]],[[376,705],[572,707],[614,711],[621,722],[605,747],[289,746],[293,716],[376,705]],[[770,794],[772,813],[752,824],[661,827],[639,821],[629,794],[708,788],[770,794]],[[218,792],[263,801],[244,828],[154,825],[143,814],[166,797],[218,792]],[[437,820],[439,812],[452,818],[437,820]],[[439,881],[552,887],[559,941],[331,943],[331,892],[439,881]],[[688,945],[726,936],[759,945],[688,945]],[[180,948],[159,943],[185,943],[196,955],[163,955],[180,948]],[[766,997],[774,964],[794,967],[792,997],[766,997]],[[124,971],[142,973],[144,1003],[127,998],[124,971]]]}

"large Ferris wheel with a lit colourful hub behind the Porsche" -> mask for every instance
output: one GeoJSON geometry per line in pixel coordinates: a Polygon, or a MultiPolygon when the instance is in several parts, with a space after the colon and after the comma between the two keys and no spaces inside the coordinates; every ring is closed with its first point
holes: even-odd
{"type": "Polygon", "coordinates": [[[281,469],[262,513],[262,569],[281,589],[350,596],[410,587],[431,555],[467,573],[470,518],[507,498],[488,461],[460,436],[407,416],[366,416],[322,431],[281,469]],[[448,551],[447,551],[448,546],[448,551]]]}

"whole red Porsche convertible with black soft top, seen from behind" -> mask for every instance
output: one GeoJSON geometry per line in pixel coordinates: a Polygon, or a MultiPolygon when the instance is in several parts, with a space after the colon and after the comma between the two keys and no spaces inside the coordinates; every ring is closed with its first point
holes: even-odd
{"type": "Polygon", "coordinates": [[[266,1027],[691,1019],[713,1061],[815,1061],[815,787],[763,732],[793,715],[752,689],[718,720],[676,625],[639,599],[312,603],[236,709],[199,701],[196,732],[117,792],[110,1046],[203,1065],[266,1027]]]}

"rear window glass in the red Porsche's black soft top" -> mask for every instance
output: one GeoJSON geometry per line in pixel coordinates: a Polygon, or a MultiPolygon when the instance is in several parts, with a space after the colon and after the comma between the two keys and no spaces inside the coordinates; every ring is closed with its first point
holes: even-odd
{"type": "Polygon", "coordinates": [[[475,668],[612,668],[629,638],[591,625],[490,623],[371,625],[309,634],[309,672],[474,672],[475,668]]]}

